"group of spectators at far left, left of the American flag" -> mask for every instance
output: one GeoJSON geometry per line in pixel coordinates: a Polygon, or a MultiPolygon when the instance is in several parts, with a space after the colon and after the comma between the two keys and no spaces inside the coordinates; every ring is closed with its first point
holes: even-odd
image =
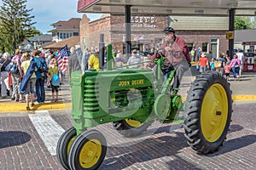
{"type": "Polygon", "coordinates": [[[38,49],[32,52],[16,49],[13,56],[8,52],[0,54],[2,99],[26,103],[29,111],[34,105],[44,104],[48,87],[55,92],[51,101],[58,102],[58,86],[51,84],[54,74],[61,77],[56,57],[52,50],[38,49]]]}

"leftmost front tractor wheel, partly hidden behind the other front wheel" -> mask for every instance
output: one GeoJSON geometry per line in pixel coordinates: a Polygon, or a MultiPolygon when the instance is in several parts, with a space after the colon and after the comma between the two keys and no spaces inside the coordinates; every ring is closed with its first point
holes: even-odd
{"type": "Polygon", "coordinates": [[[61,137],[57,143],[56,150],[58,160],[61,162],[61,166],[67,170],[70,169],[67,162],[67,154],[76,135],[76,129],[74,127],[71,127],[61,134],[61,137]]]}

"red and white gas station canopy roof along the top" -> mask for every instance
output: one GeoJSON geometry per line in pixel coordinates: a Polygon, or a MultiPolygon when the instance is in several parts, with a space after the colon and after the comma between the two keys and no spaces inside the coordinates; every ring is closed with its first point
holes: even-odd
{"type": "Polygon", "coordinates": [[[229,16],[235,9],[236,16],[255,16],[255,0],[79,0],[79,13],[125,14],[125,6],[131,6],[131,14],[210,15],[229,16]]]}

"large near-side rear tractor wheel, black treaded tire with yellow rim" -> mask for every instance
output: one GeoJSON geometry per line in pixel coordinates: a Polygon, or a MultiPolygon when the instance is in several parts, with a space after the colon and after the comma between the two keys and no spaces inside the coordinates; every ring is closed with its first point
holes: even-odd
{"type": "Polygon", "coordinates": [[[230,83],[213,72],[196,77],[184,113],[185,137],[192,149],[201,154],[218,150],[230,127],[230,83]]]}

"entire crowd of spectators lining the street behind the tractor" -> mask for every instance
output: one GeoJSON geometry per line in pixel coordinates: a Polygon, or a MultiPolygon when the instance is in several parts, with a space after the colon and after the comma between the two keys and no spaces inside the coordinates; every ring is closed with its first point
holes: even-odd
{"type": "MultiPolygon", "coordinates": [[[[195,51],[196,53],[198,51],[195,51]]],[[[58,54],[58,51],[54,52],[50,49],[35,49],[31,53],[16,49],[13,56],[8,52],[0,54],[2,99],[9,97],[15,102],[26,103],[26,110],[30,110],[34,105],[44,104],[45,88],[51,88],[52,96],[50,102],[58,102],[58,88],[66,74],[60,71],[57,62],[58,54]],[[17,71],[6,69],[11,64],[16,65],[17,71]],[[44,77],[43,72],[46,73],[46,77],[44,77]],[[53,84],[53,81],[59,82],[54,82],[53,84]]],[[[117,69],[141,68],[154,71],[155,65],[152,65],[150,59],[152,59],[152,54],[143,56],[137,49],[131,51],[129,59],[125,59],[125,55],[121,53],[121,50],[113,49],[113,67],[117,69]]],[[[206,54],[201,54],[198,59],[198,66],[200,72],[206,72],[207,70],[218,71],[227,78],[230,77],[230,71],[232,71],[234,80],[238,80],[241,77],[242,60],[243,54],[240,51],[234,55],[232,60],[224,54],[220,54],[218,59],[212,56],[209,58],[206,54]],[[221,64],[218,66],[219,62],[221,64]]],[[[100,70],[99,50],[97,48],[90,48],[90,50],[86,48],[83,53],[81,48],[70,48],[67,64],[69,80],[73,71],[84,72],[89,69],[100,70]]]]}

